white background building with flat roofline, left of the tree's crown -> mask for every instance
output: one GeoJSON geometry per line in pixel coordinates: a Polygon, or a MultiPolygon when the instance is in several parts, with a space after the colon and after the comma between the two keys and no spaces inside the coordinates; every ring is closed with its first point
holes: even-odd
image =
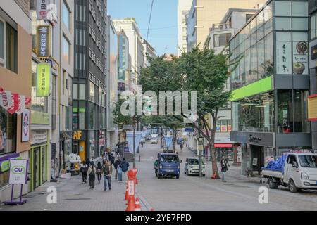
{"type": "Polygon", "coordinates": [[[129,40],[129,53],[131,56],[131,89],[137,91],[138,73],[144,67],[144,46],[141,32],[134,18],[113,20],[117,32],[124,31],[129,40]]]}

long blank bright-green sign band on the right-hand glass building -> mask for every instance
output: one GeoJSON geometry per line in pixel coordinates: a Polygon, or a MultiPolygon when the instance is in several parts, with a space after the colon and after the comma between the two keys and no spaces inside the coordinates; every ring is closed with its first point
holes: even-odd
{"type": "Polygon", "coordinates": [[[237,101],[239,99],[247,98],[249,96],[254,96],[256,94],[261,94],[266,91],[271,91],[273,89],[272,76],[260,79],[257,82],[248,84],[247,86],[242,86],[240,89],[232,91],[232,96],[230,101],[237,101]]]}

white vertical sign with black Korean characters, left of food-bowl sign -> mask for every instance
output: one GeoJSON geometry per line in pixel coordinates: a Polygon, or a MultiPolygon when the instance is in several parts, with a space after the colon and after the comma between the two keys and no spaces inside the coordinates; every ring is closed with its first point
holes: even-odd
{"type": "Polygon", "coordinates": [[[292,42],[276,41],[276,73],[280,75],[292,74],[292,42]]]}

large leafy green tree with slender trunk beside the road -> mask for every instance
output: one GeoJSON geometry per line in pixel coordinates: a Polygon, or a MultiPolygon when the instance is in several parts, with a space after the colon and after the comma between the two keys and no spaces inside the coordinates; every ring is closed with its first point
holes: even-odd
{"type": "MultiPolygon", "coordinates": [[[[166,56],[148,58],[149,67],[141,70],[139,84],[143,91],[197,91],[197,123],[190,124],[209,142],[213,174],[218,175],[214,148],[218,111],[228,102],[230,92],[223,91],[229,76],[228,58],[224,53],[216,55],[211,49],[194,48],[182,53],[180,58],[167,60],[166,56]],[[213,126],[205,120],[207,114],[213,118],[213,126]]],[[[173,115],[182,122],[187,115],[173,115]]]]}

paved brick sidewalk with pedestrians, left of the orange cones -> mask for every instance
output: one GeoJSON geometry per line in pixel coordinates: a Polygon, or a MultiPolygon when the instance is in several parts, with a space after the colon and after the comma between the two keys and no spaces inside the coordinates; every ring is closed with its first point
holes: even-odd
{"type": "MultiPolygon", "coordinates": [[[[97,177],[96,177],[97,180],[97,177]]],[[[104,191],[103,178],[100,184],[95,183],[94,189],[89,184],[82,184],[82,176],[72,179],[59,179],[59,183],[46,182],[32,193],[23,196],[27,199],[25,205],[0,205],[0,211],[123,211],[126,208],[126,183],[119,183],[112,179],[111,191],[104,191]],[[57,204],[46,202],[46,190],[49,186],[57,188],[57,204]]],[[[88,182],[88,181],[87,181],[88,182]]]]}

